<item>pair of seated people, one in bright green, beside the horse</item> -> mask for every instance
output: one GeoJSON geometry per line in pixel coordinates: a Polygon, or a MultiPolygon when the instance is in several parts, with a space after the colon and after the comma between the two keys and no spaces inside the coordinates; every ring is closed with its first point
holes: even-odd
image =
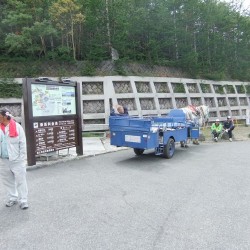
{"type": "Polygon", "coordinates": [[[232,131],[234,130],[234,123],[231,118],[231,116],[227,117],[227,120],[222,124],[220,123],[219,119],[216,119],[216,121],[212,124],[211,126],[211,131],[213,134],[213,139],[215,142],[218,141],[219,136],[222,135],[222,133],[227,133],[229,141],[233,141],[233,133],[232,131]]]}

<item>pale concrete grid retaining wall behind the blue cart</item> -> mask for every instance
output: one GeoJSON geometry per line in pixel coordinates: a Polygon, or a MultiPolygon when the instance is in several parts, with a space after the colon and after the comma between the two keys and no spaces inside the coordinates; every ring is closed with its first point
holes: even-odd
{"type": "MultiPolygon", "coordinates": [[[[115,104],[125,105],[130,115],[139,116],[163,115],[191,104],[208,105],[211,122],[217,118],[223,121],[231,115],[250,123],[250,95],[246,93],[249,82],[137,76],[71,77],[71,80],[81,86],[85,131],[108,129],[110,110],[115,104]]],[[[14,113],[17,110],[14,115],[22,120],[22,100],[0,99],[0,107],[4,105],[9,105],[14,113]]]]}

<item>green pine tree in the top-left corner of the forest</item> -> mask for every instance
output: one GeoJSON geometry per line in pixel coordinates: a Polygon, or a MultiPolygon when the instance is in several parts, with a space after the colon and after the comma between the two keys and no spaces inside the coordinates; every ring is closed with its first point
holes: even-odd
{"type": "Polygon", "coordinates": [[[5,38],[8,52],[25,56],[46,54],[46,39],[55,36],[56,30],[43,19],[44,5],[39,3],[43,4],[42,1],[34,5],[30,0],[7,0],[3,24],[8,30],[5,38]]]}

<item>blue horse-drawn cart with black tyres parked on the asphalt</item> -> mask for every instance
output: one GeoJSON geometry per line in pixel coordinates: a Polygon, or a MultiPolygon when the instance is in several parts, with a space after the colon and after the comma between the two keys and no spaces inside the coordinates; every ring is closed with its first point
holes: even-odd
{"type": "Polygon", "coordinates": [[[198,124],[188,122],[179,109],[161,117],[110,116],[109,127],[111,145],[133,148],[136,155],[154,149],[167,159],[173,157],[176,142],[199,138],[198,124]]]}

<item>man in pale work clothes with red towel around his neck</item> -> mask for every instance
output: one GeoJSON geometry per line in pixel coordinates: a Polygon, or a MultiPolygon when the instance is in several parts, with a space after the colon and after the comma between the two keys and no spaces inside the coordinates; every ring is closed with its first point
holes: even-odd
{"type": "Polygon", "coordinates": [[[26,137],[7,109],[0,110],[0,175],[7,191],[6,207],[29,207],[26,181],[26,137]]]}

